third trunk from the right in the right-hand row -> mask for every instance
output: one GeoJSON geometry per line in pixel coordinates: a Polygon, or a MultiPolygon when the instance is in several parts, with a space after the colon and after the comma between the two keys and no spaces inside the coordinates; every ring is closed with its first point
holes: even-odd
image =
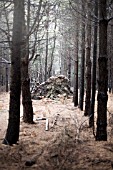
{"type": "Polygon", "coordinates": [[[90,114],[91,97],[91,1],[87,0],[87,24],[86,24],[86,98],[84,115],[90,114]]]}

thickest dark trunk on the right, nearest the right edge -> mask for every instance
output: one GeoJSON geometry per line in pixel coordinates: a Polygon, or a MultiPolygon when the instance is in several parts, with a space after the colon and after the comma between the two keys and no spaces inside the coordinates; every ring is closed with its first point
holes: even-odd
{"type": "Polygon", "coordinates": [[[106,0],[99,0],[99,80],[98,80],[98,108],[96,140],[107,140],[107,26],[106,0]]]}

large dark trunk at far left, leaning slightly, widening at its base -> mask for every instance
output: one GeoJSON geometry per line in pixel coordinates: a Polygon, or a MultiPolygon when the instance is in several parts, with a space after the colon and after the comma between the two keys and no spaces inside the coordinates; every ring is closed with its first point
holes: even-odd
{"type": "Polygon", "coordinates": [[[4,144],[16,144],[19,140],[20,92],[21,92],[21,43],[22,43],[22,0],[14,0],[13,37],[11,54],[11,85],[9,122],[4,144]]]}

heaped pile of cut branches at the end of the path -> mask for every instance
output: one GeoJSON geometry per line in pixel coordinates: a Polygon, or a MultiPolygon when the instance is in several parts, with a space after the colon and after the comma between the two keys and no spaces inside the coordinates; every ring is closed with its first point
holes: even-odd
{"type": "Polygon", "coordinates": [[[46,82],[36,84],[31,92],[32,99],[38,100],[42,97],[55,99],[59,95],[68,97],[72,94],[69,79],[64,75],[50,77],[46,82]]]}

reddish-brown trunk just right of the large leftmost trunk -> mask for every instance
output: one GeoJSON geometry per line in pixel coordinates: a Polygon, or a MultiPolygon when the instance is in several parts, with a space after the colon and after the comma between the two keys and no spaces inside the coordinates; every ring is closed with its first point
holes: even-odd
{"type": "MultiPolygon", "coordinates": [[[[24,19],[24,0],[23,0],[23,28],[25,28],[24,19]]],[[[28,1],[28,18],[27,27],[29,32],[29,19],[30,19],[30,0],[28,1]]],[[[21,80],[22,80],[22,104],[23,104],[23,121],[25,123],[33,123],[33,107],[30,93],[30,78],[28,73],[29,66],[29,38],[25,39],[26,32],[23,29],[23,46],[22,46],[22,59],[21,59],[21,80]]]]}

